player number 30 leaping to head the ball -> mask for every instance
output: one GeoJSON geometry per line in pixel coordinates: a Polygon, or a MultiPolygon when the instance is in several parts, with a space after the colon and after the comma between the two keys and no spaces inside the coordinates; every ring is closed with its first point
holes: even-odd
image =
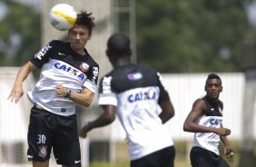
{"type": "Polygon", "coordinates": [[[21,67],[8,97],[17,103],[22,83],[35,68],[40,80],[27,93],[34,103],[28,127],[27,157],[34,167],[48,167],[53,148],[58,164],[81,166],[75,103],[89,106],[94,97],[99,66],[84,49],[92,36],[94,17],[82,11],[68,31],[69,42],[53,40],[21,67]]]}

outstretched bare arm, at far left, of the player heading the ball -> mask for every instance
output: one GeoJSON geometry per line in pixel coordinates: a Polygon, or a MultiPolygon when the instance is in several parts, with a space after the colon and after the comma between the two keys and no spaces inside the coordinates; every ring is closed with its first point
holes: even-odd
{"type": "Polygon", "coordinates": [[[23,65],[15,79],[14,87],[11,90],[11,93],[9,94],[7,99],[11,99],[11,102],[18,103],[19,99],[24,94],[24,90],[22,87],[22,83],[25,81],[25,78],[30,74],[36,67],[31,62],[27,62],[25,65],[23,65]]]}

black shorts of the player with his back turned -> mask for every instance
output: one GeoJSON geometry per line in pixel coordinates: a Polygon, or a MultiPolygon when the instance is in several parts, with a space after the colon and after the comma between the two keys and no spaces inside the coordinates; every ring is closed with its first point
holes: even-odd
{"type": "Polygon", "coordinates": [[[174,146],[170,146],[131,161],[131,167],[173,167],[174,158],[175,149],[174,146]]]}

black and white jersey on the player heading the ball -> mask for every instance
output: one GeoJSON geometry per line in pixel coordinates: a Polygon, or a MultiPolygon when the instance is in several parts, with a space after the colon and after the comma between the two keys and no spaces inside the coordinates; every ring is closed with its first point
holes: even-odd
{"type": "MultiPolygon", "coordinates": [[[[86,50],[85,50],[86,51],[86,50]]],[[[40,79],[34,90],[28,92],[28,98],[51,113],[72,115],[75,103],[55,93],[56,84],[62,84],[72,92],[81,93],[86,87],[94,92],[98,79],[98,64],[90,54],[80,55],[71,49],[69,43],[52,41],[34,55],[31,62],[42,67],[40,79]]]]}

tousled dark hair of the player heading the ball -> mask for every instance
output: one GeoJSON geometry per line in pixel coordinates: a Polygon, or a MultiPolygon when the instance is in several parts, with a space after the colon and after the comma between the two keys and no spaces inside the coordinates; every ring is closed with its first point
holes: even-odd
{"type": "Polygon", "coordinates": [[[80,14],[77,14],[75,25],[85,25],[88,28],[89,34],[92,34],[95,26],[94,17],[92,15],[92,13],[81,11],[80,14]]]}

